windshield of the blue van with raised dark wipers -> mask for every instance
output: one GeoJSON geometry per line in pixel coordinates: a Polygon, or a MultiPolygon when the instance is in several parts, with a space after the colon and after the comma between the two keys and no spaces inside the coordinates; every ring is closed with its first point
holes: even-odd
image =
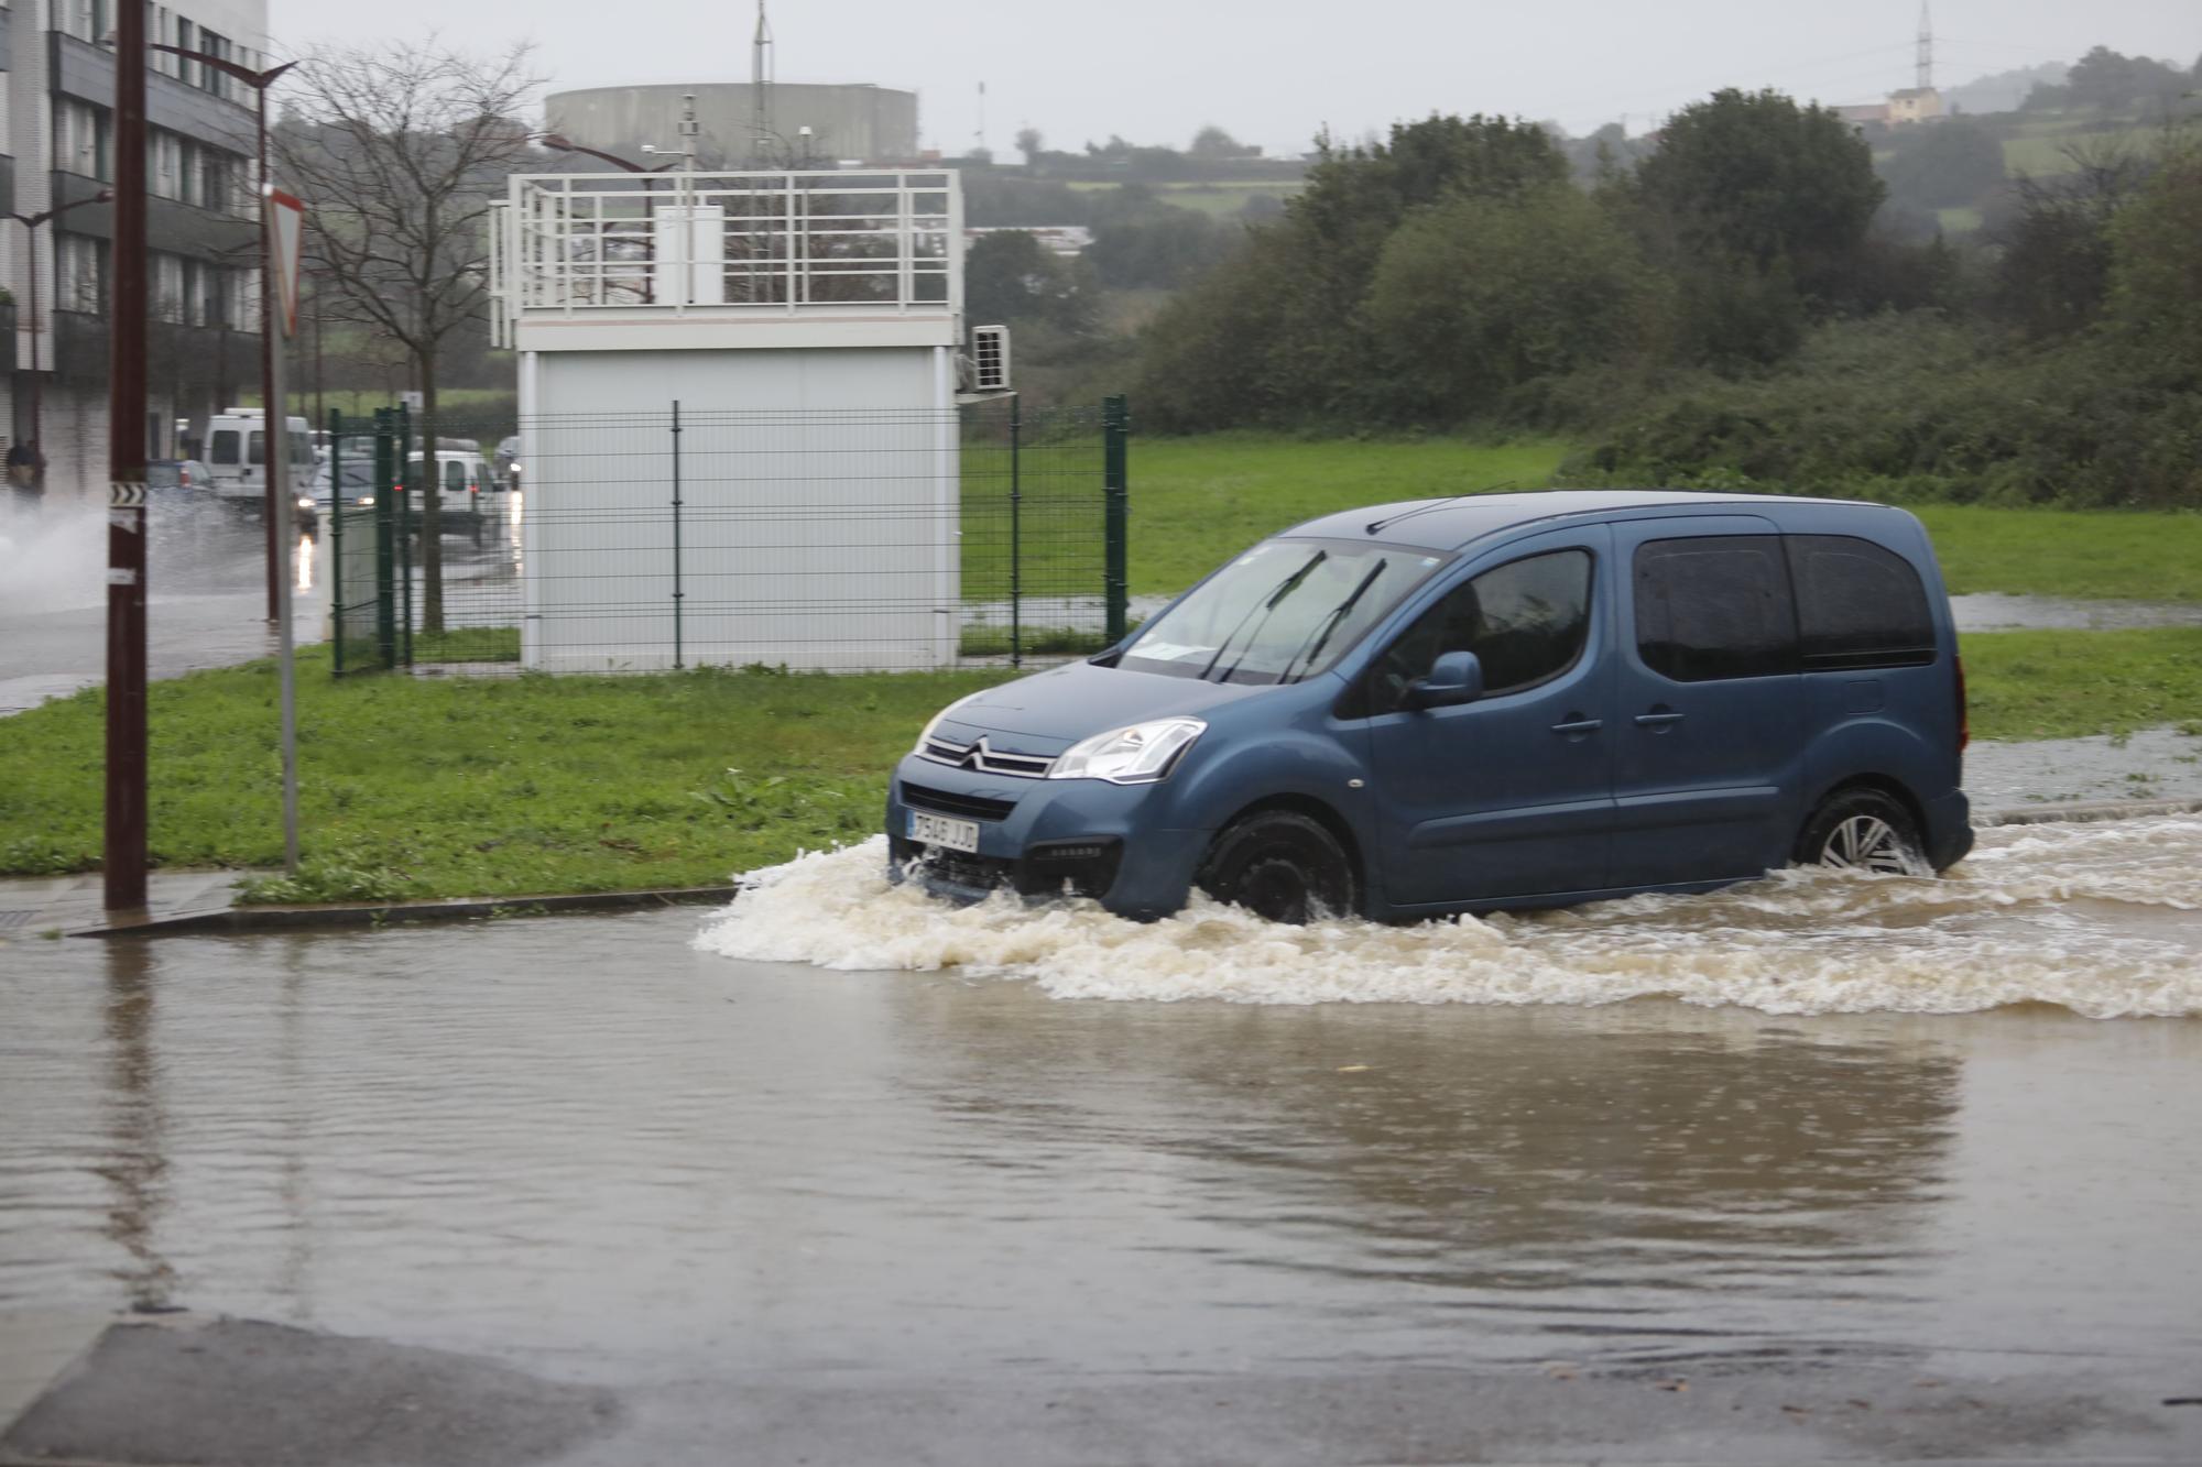
{"type": "Polygon", "coordinates": [[[1209,683],[1297,683],[1339,661],[1445,555],[1264,540],[1141,628],[1119,667],[1209,683]]]}

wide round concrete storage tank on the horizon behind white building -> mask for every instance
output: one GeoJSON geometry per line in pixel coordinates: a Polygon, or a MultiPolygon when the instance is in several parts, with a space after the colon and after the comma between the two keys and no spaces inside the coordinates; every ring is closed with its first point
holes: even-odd
{"type": "MultiPolygon", "coordinates": [[[[918,95],[887,86],[813,86],[771,82],[773,165],[788,165],[802,152],[802,130],[810,128],[808,161],[907,163],[918,156],[918,95]]],[[[643,143],[680,148],[680,115],[696,97],[696,161],[702,167],[744,167],[755,137],[755,90],[749,82],[698,82],[665,86],[586,86],[550,93],[544,108],[550,130],[575,143],[634,154],[643,143]]]]}

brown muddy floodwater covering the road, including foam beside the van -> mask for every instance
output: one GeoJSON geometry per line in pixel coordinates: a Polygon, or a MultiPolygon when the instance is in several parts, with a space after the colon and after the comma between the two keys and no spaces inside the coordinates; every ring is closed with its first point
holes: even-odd
{"type": "Polygon", "coordinates": [[[2198,872],[2160,819],[1277,932],[859,852],[733,916],[11,941],[0,1311],[612,1381],[2191,1361],[2202,1022],[2143,1015],[2202,1011],[2198,872]]]}

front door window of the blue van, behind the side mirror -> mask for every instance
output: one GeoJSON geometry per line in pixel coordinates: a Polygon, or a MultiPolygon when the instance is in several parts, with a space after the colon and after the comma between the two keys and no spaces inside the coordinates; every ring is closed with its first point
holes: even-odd
{"type": "Polygon", "coordinates": [[[1370,667],[1365,709],[1394,714],[1442,652],[1484,663],[1484,696],[1550,683],[1590,637],[1590,551],[1548,551],[1484,570],[1422,612],[1370,667]]]}

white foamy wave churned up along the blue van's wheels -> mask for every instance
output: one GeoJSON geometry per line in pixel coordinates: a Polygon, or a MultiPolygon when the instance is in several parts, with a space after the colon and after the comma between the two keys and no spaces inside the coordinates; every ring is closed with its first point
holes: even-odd
{"type": "Polygon", "coordinates": [[[951,908],[885,879],[885,841],[742,877],[696,938],[731,958],[958,969],[1057,998],[1610,1004],[1766,1013],[2202,1013],[2202,819],[1984,830],[1942,879],[1786,870],[1709,896],[1387,927],[1279,927],[1196,899],[1160,923],[1090,901],[951,908]],[[2138,921],[2136,921],[2138,919],[2138,921]],[[2167,919],[2184,930],[2147,936],[2167,919]],[[2136,932],[2140,927],[2143,932],[2136,932]]]}

